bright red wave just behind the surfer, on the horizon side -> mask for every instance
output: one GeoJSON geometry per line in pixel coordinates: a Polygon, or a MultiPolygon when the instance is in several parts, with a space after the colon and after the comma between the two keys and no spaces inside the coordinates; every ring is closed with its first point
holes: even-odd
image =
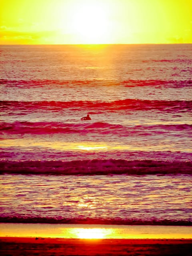
{"type": "Polygon", "coordinates": [[[179,112],[191,111],[192,101],[185,100],[115,100],[112,102],[103,101],[0,101],[1,111],[34,111],[34,110],[48,110],[48,111],[63,111],[70,108],[72,110],[100,110],[103,111],[118,111],[118,110],[159,110],[165,112],[179,112]]]}

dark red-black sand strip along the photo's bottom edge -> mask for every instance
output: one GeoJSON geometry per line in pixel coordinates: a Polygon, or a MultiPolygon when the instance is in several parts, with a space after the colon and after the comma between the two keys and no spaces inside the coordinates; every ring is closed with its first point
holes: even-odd
{"type": "Polygon", "coordinates": [[[0,237],[2,256],[191,256],[191,239],[63,239],[0,237]]]}

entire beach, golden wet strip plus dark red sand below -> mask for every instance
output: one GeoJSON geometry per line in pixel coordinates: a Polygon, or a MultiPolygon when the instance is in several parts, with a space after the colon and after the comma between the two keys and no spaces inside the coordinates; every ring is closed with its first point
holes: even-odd
{"type": "Polygon", "coordinates": [[[7,255],[190,256],[192,227],[77,224],[0,224],[7,255]]]}

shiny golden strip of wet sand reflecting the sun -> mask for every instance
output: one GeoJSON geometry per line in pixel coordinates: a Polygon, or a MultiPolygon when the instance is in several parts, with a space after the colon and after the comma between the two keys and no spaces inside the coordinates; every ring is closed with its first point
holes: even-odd
{"type": "Polygon", "coordinates": [[[0,236],[72,239],[192,239],[192,227],[0,223],[0,236]]]}

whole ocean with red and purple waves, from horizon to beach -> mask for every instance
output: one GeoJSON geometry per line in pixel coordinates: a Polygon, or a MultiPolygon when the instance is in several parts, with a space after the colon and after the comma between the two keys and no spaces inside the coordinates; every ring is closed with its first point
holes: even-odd
{"type": "Polygon", "coordinates": [[[0,222],[192,225],[192,44],[1,46],[0,111],[0,222]]]}

